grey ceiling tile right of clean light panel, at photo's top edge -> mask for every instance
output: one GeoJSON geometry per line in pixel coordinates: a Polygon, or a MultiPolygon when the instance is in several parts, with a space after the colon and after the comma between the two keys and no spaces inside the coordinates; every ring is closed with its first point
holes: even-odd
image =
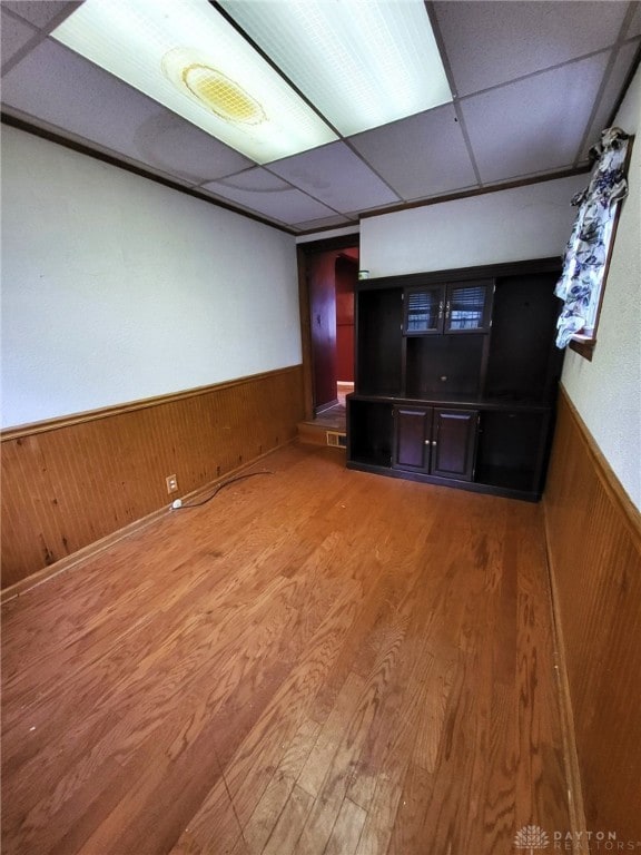
{"type": "Polygon", "coordinates": [[[609,47],[628,11],[625,2],[593,0],[434,6],[458,96],[609,47]]]}

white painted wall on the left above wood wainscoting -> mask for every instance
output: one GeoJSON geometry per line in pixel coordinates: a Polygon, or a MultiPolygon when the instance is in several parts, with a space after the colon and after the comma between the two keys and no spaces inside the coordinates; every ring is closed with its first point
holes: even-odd
{"type": "Polygon", "coordinates": [[[302,361],[293,236],[2,128],[2,425],[302,361]]]}

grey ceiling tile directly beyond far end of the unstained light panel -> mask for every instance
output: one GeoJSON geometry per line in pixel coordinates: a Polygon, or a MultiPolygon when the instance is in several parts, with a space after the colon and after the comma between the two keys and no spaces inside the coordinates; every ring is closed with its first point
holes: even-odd
{"type": "Polygon", "coordinates": [[[359,134],[349,141],[404,199],[476,184],[452,105],[359,134]]]}

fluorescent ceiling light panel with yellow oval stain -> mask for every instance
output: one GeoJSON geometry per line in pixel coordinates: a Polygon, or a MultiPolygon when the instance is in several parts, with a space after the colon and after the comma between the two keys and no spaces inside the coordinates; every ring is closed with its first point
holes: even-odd
{"type": "Polygon", "coordinates": [[[258,164],[337,139],[207,0],[85,0],[51,35],[258,164]]]}

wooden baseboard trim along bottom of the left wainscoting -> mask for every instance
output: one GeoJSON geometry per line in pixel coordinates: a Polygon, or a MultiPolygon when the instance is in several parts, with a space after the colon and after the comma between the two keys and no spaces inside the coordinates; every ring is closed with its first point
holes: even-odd
{"type": "MultiPolygon", "coordinates": [[[[230,478],[234,478],[239,472],[243,472],[246,469],[250,469],[252,466],[255,466],[256,463],[258,463],[258,461],[264,460],[265,458],[268,458],[269,455],[274,454],[275,451],[278,451],[278,449],[283,449],[286,445],[289,445],[293,442],[296,442],[296,440],[297,438],[287,440],[287,442],[282,443],[278,448],[270,449],[264,454],[259,454],[257,458],[254,458],[249,462],[244,463],[243,465],[237,466],[236,469],[233,469],[229,472],[226,472],[224,475],[220,475],[220,478],[216,478],[214,479],[214,481],[209,481],[204,487],[199,487],[197,490],[194,490],[193,492],[187,493],[184,497],[180,497],[183,502],[186,503],[194,499],[203,498],[206,493],[208,493],[210,490],[213,490],[223,481],[228,481],[230,478]]],[[[42,570],[38,570],[37,572],[31,573],[31,576],[28,576],[24,579],[21,579],[20,581],[16,582],[14,584],[11,584],[8,588],[4,588],[3,590],[1,590],[0,605],[4,605],[9,600],[14,599],[16,597],[20,597],[21,594],[27,593],[33,588],[38,588],[45,582],[48,582],[50,579],[53,579],[60,573],[65,573],[68,570],[72,570],[78,564],[81,564],[85,561],[96,558],[101,552],[105,552],[107,549],[115,546],[119,541],[125,540],[126,538],[130,538],[132,534],[136,534],[137,532],[142,531],[144,529],[148,528],[149,525],[154,524],[159,519],[165,517],[167,513],[171,513],[171,512],[172,510],[170,504],[164,505],[162,508],[159,508],[157,511],[152,511],[151,513],[147,514],[147,517],[142,517],[140,520],[136,520],[129,525],[125,525],[125,528],[118,529],[117,531],[111,532],[111,534],[107,534],[105,538],[100,538],[100,540],[97,540],[93,543],[89,543],[88,546],[82,547],[77,552],[73,552],[71,556],[66,556],[65,558],[61,558],[59,561],[56,561],[53,564],[50,564],[49,567],[42,568],[42,570]]]]}

